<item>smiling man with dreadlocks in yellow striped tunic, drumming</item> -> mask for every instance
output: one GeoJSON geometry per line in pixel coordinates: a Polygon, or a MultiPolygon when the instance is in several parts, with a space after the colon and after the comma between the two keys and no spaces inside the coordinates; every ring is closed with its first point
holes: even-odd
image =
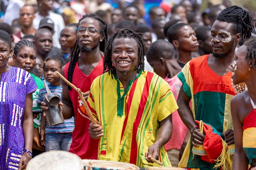
{"type": "Polygon", "coordinates": [[[92,138],[100,138],[99,159],[139,167],[171,166],[165,143],[171,138],[177,110],[165,80],[144,71],[145,44],[141,33],[119,30],[105,48],[104,74],[91,85],[88,107],[98,121],[90,124],[92,138]]]}

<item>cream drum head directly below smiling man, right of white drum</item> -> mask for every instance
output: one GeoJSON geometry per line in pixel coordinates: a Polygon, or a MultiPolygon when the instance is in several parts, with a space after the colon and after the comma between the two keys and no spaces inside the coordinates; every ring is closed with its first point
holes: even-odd
{"type": "Polygon", "coordinates": [[[101,161],[101,160],[82,160],[86,170],[140,170],[134,164],[125,162],[101,161]]]}

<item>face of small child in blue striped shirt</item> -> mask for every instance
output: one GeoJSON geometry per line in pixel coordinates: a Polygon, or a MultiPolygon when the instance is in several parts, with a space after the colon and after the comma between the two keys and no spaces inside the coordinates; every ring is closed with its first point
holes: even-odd
{"type": "Polygon", "coordinates": [[[60,86],[60,77],[56,71],[60,72],[60,63],[55,60],[46,61],[43,69],[43,76],[52,86],[60,86]]]}

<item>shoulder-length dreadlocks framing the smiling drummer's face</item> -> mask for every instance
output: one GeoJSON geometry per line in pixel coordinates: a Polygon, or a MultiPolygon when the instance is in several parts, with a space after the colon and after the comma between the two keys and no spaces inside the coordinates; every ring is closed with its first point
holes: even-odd
{"type": "Polygon", "coordinates": [[[105,48],[105,56],[104,56],[104,72],[108,72],[108,74],[111,74],[111,77],[113,78],[113,74],[116,76],[116,68],[114,67],[112,63],[112,44],[115,39],[117,38],[133,38],[137,42],[138,47],[138,63],[135,68],[137,73],[139,71],[144,71],[144,56],[145,56],[145,44],[142,40],[141,36],[142,33],[135,33],[134,31],[130,29],[122,29],[114,33],[111,38],[109,39],[106,48],[105,48]]]}

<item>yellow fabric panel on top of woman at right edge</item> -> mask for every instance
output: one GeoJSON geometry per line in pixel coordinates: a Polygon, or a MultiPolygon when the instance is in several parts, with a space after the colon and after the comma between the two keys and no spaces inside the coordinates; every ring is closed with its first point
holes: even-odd
{"type": "Polygon", "coordinates": [[[256,127],[247,128],[243,133],[243,148],[256,148],[256,127]]]}

